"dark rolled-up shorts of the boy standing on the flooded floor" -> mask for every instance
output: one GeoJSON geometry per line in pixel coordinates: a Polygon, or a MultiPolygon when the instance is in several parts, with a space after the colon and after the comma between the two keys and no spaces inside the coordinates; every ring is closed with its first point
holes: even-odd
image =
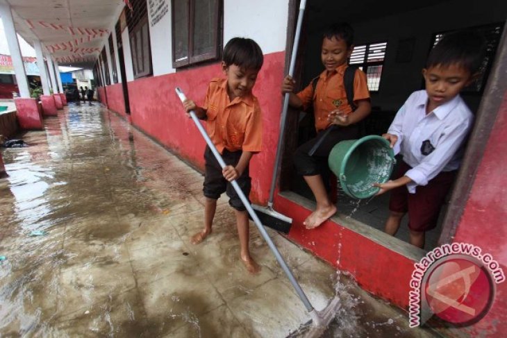
{"type": "MultiPolygon", "coordinates": [[[[222,158],[227,165],[235,167],[240,161],[241,154],[242,151],[231,152],[224,149],[222,158]]],[[[220,164],[213,155],[209,146],[206,146],[206,150],[204,151],[204,160],[206,162],[206,172],[203,183],[204,196],[212,199],[218,199],[220,195],[226,192],[227,196],[229,196],[229,204],[231,207],[238,211],[247,210],[247,208],[244,207],[240,196],[238,196],[234,190],[233,185],[224,178],[224,175],[222,174],[222,167],[220,167],[220,164]]],[[[249,166],[243,171],[243,174],[239,178],[236,178],[236,182],[240,186],[244,196],[248,199],[251,189],[249,166]]]]}

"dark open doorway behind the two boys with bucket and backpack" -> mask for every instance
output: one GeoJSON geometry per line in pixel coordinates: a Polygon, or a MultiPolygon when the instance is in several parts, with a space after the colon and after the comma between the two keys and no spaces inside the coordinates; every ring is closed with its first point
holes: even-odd
{"type": "MultiPolygon", "coordinates": [[[[451,0],[404,4],[372,0],[340,1],[332,4],[324,0],[309,1],[299,43],[299,67],[296,67],[294,79],[301,90],[322,72],[324,67],[320,61],[321,32],[334,22],[349,22],[355,31],[356,46],[350,63],[363,67],[363,71],[367,73],[371,94],[372,114],[365,119],[365,131],[367,135],[381,135],[388,130],[397,110],[410,93],[424,89],[421,70],[435,41],[438,41],[442,34],[474,28],[483,31],[488,40],[488,62],[485,64],[484,76],[475,88],[467,88],[462,93],[469,108],[476,113],[504,29],[505,12],[507,3],[499,4],[493,0],[481,1],[480,4],[470,0],[465,3],[451,0]],[[467,11],[460,11],[457,15],[456,8],[467,8],[467,11]],[[369,59],[369,53],[376,58],[369,59]]],[[[299,115],[288,114],[286,126],[287,130],[298,130],[298,133],[285,135],[281,190],[294,192],[311,200],[313,195],[306,183],[292,170],[291,154],[301,142],[312,136],[312,117],[302,112],[299,115]]],[[[383,231],[385,219],[388,217],[389,194],[358,201],[349,198],[338,187],[336,199],[341,214],[360,221],[365,226],[383,231]]],[[[444,205],[438,228],[426,234],[427,250],[431,250],[439,242],[446,210],[447,205],[444,205]]],[[[396,236],[401,241],[408,241],[406,223],[405,217],[396,236]]]]}

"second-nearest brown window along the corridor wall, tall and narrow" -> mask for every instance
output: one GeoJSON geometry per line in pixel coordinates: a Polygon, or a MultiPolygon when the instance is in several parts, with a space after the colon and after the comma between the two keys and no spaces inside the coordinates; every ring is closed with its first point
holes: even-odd
{"type": "Polygon", "coordinates": [[[128,37],[131,42],[135,78],[152,74],[147,0],[131,0],[132,10],[126,11],[128,37]]]}

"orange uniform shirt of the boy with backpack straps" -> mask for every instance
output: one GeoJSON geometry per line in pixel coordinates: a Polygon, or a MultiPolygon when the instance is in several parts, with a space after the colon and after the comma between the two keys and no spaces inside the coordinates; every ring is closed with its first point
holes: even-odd
{"type": "MultiPolygon", "coordinates": [[[[315,88],[315,98],[312,97],[312,83],[304,90],[297,93],[299,99],[303,102],[303,109],[306,110],[313,103],[313,112],[315,114],[315,128],[317,131],[331,126],[327,121],[327,115],[335,109],[340,109],[345,114],[352,112],[352,107],[347,101],[347,92],[343,84],[343,75],[348,65],[340,65],[334,71],[324,70],[319,76],[317,87],[315,88]]],[[[369,90],[366,74],[358,69],[354,76],[354,103],[357,101],[369,99],[369,90]]]]}

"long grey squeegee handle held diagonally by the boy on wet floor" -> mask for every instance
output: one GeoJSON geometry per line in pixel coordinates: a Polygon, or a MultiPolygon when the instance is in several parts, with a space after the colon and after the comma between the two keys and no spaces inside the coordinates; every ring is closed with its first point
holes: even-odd
{"type": "MultiPolygon", "coordinates": [[[[176,87],[176,94],[178,94],[181,102],[185,101],[186,96],[183,94],[181,89],[179,87],[176,87]]],[[[215,158],[217,159],[218,163],[220,164],[220,167],[225,168],[226,164],[224,160],[222,159],[222,156],[217,151],[217,148],[215,147],[215,144],[213,144],[213,141],[208,136],[208,133],[206,133],[206,130],[204,130],[201,122],[199,122],[199,119],[197,119],[197,116],[195,115],[195,112],[193,110],[190,111],[190,117],[192,117],[192,120],[194,121],[195,125],[201,132],[202,137],[204,137],[204,140],[206,140],[206,143],[210,147],[211,151],[213,152],[213,155],[215,155],[215,158]]],[[[297,282],[296,278],[294,278],[294,275],[292,275],[292,271],[290,271],[289,267],[287,266],[287,263],[285,263],[285,260],[283,260],[283,257],[281,256],[280,252],[278,251],[278,248],[274,245],[273,241],[271,240],[271,237],[267,234],[264,226],[262,223],[260,223],[260,219],[257,217],[257,214],[253,211],[253,208],[251,208],[251,205],[247,199],[246,196],[244,196],[240,186],[238,185],[238,182],[236,180],[231,181],[231,184],[233,185],[233,188],[235,189],[236,193],[238,193],[238,196],[240,196],[241,201],[243,202],[245,208],[247,208],[248,213],[251,216],[251,219],[253,219],[253,222],[256,223],[257,228],[260,231],[260,235],[263,235],[265,241],[267,242],[267,245],[273,251],[274,257],[276,257],[276,260],[281,265],[283,271],[285,272],[285,275],[290,280],[290,283],[296,290],[297,294],[299,295],[299,298],[301,298],[301,301],[304,303],[306,310],[308,312],[313,311],[313,306],[311,305],[310,301],[308,301],[308,297],[306,297],[306,294],[304,293],[303,289],[301,289],[301,286],[297,282]]]]}

